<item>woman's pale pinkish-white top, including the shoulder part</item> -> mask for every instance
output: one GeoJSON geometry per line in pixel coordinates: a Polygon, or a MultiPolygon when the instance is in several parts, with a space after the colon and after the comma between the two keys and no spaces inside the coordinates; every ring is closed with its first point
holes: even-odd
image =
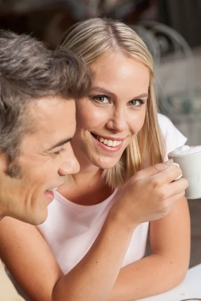
{"type": "MultiPolygon", "coordinates": [[[[166,116],[158,114],[158,120],[165,137],[167,155],[185,144],[186,138],[166,116]]],[[[55,198],[48,206],[47,220],[37,229],[50,246],[64,274],[88,252],[115,201],[117,191],[102,203],[92,206],[74,204],[55,192],[55,198]]],[[[149,223],[143,223],[134,231],[122,267],[144,256],[148,227],[149,223]]]]}

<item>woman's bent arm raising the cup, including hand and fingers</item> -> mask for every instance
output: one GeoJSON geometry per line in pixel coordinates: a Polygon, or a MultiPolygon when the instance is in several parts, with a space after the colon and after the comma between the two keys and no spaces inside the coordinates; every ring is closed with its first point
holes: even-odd
{"type": "Polygon", "coordinates": [[[169,163],[140,171],[125,184],[93,245],[65,276],[35,227],[1,221],[0,256],[33,301],[107,299],[135,228],[166,215],[184,195],[187,182],[172,183],[181,170],[169,163]]]}

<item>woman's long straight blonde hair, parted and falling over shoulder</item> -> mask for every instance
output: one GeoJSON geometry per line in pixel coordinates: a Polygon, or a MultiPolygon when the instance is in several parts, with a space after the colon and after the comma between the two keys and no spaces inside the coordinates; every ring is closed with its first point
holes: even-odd
{"type": "Polygon", "coordinates": [[[126,56],[138,59],[149,69],[149,97],[144,124],[116,166],[103,171],[106,184],[114,189],[123,185],[137,171],[163,162],[164,141],[157,118],[153,60],[142,39],[122,22],[95,18],[70,27],[57,51],[63,48],[71,50],[89,65],[111,52],[121,51],[126,56]]]}

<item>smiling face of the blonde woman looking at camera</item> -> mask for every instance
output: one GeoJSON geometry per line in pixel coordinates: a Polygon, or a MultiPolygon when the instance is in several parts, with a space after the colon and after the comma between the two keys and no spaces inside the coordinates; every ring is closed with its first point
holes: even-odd
{"type": "Polygon", "coordinates": [[[90,95],[76,102],[72,147],[80,165],[87,161],[109,169],[143,126],[149,70],[121,52],[91,65],[95,76],[90,95]]]}

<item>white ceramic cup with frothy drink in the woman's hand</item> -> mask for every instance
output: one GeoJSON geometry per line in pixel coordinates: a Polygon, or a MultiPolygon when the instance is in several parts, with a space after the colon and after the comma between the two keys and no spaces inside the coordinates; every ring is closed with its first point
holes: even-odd
{"type": "Polygon", "coordinates": [[[188,188],[185,190],[187,199],[201,198],[201,152],[189,155],[168,154],[168,158],[179,164],[182,176],[188,181],[188,188]]]}

